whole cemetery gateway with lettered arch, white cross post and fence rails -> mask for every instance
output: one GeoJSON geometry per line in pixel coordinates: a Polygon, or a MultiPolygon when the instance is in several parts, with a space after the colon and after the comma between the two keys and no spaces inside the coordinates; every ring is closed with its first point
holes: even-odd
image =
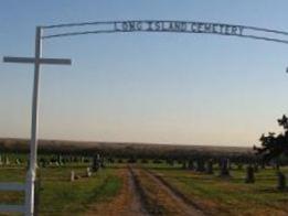
{"type": "Polygon", "coordinates": [[[199,21],[171,21],[171,20],[129,20],[129,21],[98,21],[65,23],[55,25],[36,26],[35,55],[34,57],[3,57],[7,63],[32,63],[34,64],[34,84],[32,100],[32,123],[30,143],[30,169],[26,174],[25,184],[0,183],[0,191],[25,191],[24,205],[0,205],[0,212],[20,212],[26,216],[34,215],[34,184],[36,174],[38,154],[38,119],[39,119],[39,80],[41,64],[68,65],[71,60],[43,58],[42,42],[63,36],[76,36],[100,33],[131,33],[131,32],[156,32],[156,33],[195,33],[215,34],[222,36],[237,36],[254,40],[270,41],[288,44],[288,32],[256,28],[248,25],[236,25],[216,22],[199,21]],[[84,28],[84,30],[79,30],[84,28]],[[89,30],[87,30],[89,28],[89,30]],[[76,29],[76,30],[74,30],[76,29]],[[51,33],[51,31],[53,31],[51,33]]]}

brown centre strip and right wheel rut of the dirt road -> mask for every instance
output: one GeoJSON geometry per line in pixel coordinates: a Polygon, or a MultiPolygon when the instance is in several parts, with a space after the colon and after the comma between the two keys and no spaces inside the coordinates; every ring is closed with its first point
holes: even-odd
{"type": "Polygon", "coordinates": [[[151,215],[204,215],[198,206],[186,202],[180,193],[177,193],[151,172],[139,168],[130,168],[130,170],[138,179],[140,191],[142,191],[140,193],[143,194],[143,203],[151,215]]]}

